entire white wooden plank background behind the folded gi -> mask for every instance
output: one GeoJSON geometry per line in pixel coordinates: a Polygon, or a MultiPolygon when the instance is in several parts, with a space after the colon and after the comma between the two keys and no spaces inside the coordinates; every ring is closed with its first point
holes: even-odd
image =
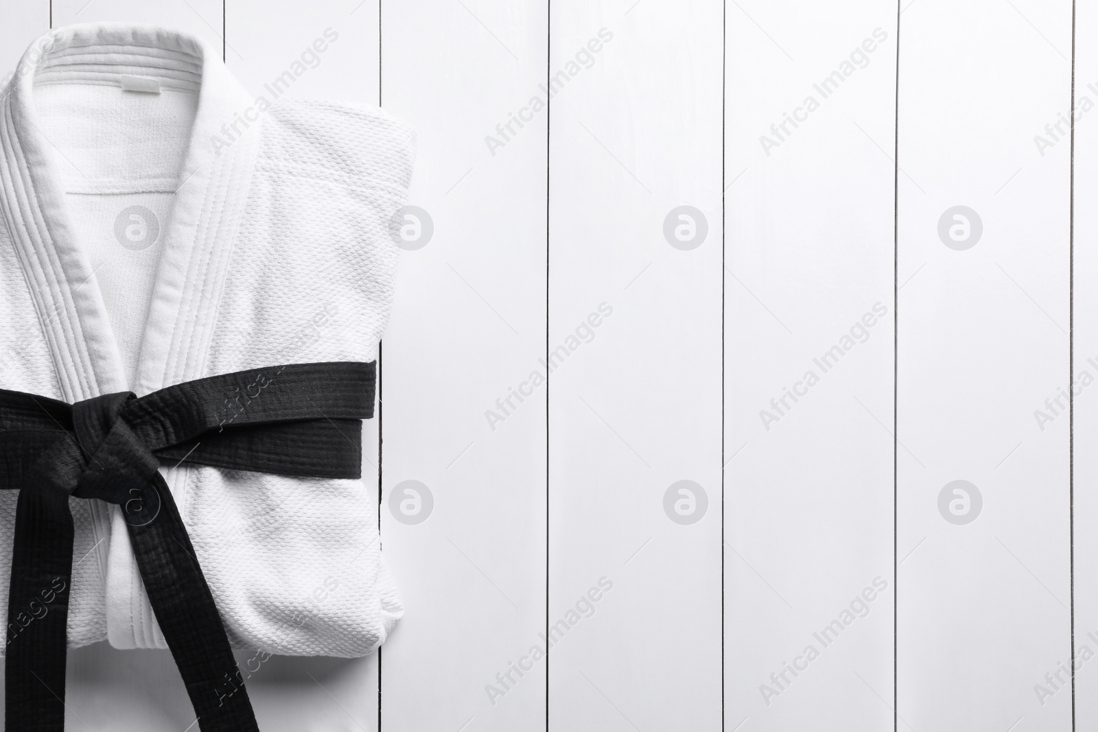
{"type": "MultiPolygon", "coordinates": [[[[407,613],[266,664],[264,730],[1098,728],[1098,0],[0,0],[0,69],[103,20],[256,90],[335,29],[291,93],[418,134],[407,613]]],[[[163,653],[74,653],[69,707],[193,720],[163,653]]]]}

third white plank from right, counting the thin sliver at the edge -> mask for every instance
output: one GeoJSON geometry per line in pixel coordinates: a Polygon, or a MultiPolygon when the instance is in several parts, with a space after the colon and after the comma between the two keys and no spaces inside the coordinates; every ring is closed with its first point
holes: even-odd
{"type": "Polygon", "coordinates": [[[892,729],[895,26],[728,5],[729,730],[892,729]]]}

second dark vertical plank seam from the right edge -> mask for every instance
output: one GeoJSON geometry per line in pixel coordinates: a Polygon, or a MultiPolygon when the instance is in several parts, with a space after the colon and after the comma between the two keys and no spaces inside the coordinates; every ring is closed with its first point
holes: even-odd
{"type": "MultiPolygon", "coordinates": [[[[1073,0],[1074,1],[1074,0],[1073,0]]],[[[903,0],[896,0],[896,90],[893,102],[893,732],[899,732],[899,50],[903,0]]]]}

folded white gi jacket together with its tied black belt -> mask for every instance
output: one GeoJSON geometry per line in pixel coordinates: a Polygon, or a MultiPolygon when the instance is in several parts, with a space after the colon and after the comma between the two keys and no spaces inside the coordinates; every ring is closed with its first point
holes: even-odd
{"type": "MultiPolygon", "coordinates": [[[[338,42],[318,33],[313,57],[338,42]]],[[[357,480],[360,428],[339,420],[368,416],[413,137],[369,106],[291,100],[309,71],[289,58],[248,94],[192,36],[93,24],[43,36],[0,90],[9,669],[64,606],[69,646],[171,647],[206,730],[223,712],[197,694],[227,647],[358,656],[400,618],[376,464],[357,480]],[[216,616],[224,643],[178,642],[167,607],[216,616]]],[[[222,675],[213,703],[246,710],[222,675]]],[[[225,723],[209,729],[251,729],[225,723]]]]}

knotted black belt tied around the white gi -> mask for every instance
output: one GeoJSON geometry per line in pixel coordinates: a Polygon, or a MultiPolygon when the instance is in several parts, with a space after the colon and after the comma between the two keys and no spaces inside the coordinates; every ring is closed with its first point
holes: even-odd
{"type": "Polygon", "coordinates": [[[202,732],[258,732],[160,460],[311,477],[361,474],[374,363],[302,363],[74,405],[0,390],[0,488],[19,489],[8,596],[8,730],[65,728],[69,496],[122,510],[202,732]]]}

